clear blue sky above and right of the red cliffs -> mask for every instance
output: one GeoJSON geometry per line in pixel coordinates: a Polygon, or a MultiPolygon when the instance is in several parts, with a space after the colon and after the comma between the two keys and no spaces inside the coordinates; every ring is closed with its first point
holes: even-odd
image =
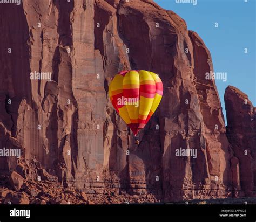
{"type": "Polygon", "coordinates": [[[224,93],[228,85],[246,93],[256,106],[256,0],[245,1],[197,0],[193,5],[176,3],[176,0],[154,0],[185,19],[188,30],[199,34],[211,52],[214,72],[227,72],[226,82],[216,80],[225,119],[224,93]],[[248,53],[244,53],[245,48],[248,53]]]}

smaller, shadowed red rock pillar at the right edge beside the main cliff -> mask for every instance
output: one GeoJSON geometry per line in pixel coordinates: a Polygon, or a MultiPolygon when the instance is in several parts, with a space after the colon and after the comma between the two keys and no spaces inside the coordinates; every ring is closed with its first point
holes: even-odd
{"type": "Polygon", "coordinates": [[[256,186],[256,108],[248,96],[228,86],[225,91],[227,137],[239,160],[240,196],[253,196],[256,186]]]}

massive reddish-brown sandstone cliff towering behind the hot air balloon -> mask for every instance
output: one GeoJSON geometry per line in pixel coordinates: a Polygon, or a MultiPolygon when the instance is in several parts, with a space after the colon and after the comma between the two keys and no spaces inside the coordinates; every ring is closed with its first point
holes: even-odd
{"type": "Polygon", "coordinates": [[[0,157],[0,175],[22,174],[30,203],[166,202],[253,190],[240,187],[246,165],[227,140],[215,82],[205,79],[210,52],[183,19],[151,0],[22,2],[0,8],[0,148],[22,150],[19,159],[0,157]],[[107,96],[114,75],[130,69],[151,70],[164,83],[139,147],[107,96]],[[51,81],[31,72],[51,73],[51,81]],[[197,158],[177,156],[180,148],[197,158]],[[75,193],[63,193],[70,188],[75,193]]]}

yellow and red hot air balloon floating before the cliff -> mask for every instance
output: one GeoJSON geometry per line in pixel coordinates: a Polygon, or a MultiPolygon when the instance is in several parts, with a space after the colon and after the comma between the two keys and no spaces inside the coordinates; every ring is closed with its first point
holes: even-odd
{"type": "Polygon", "coordinates": [[[156,111],[163,95],[163,83],[156,73],[145,70],[122,71],[110,83],[109,96],[117,113],[138,133],[156,111]]]}

